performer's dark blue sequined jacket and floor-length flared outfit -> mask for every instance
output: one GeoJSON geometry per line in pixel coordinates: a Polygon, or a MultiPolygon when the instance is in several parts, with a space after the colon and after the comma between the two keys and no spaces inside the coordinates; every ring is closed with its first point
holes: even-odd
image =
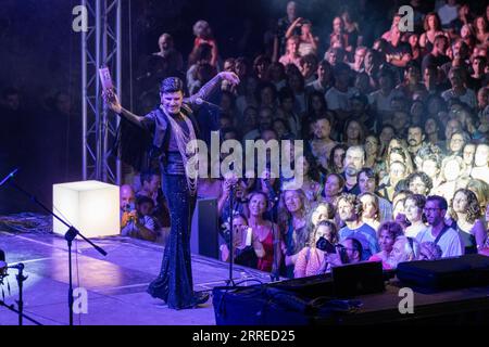
{"type": "MultiPolygon", "coordinates": [[[[217,75],[201,90],[184,100],[180,113],[187,116],[199,134],[199,127],[193,111],[198,107],[196,100],[209,99],[221,83],[217,75]]],[[[148,293],[163,299],[170,308],[183,309],[196,305],[193,292],[190,229],[196,204],[196,196],[190,194],[185,176],[184,160],[178,152],[175,133],[167,117],[173,117],[181,131],[188,134],[189,129],[180,115],[166,115],[156,108],[143,117],[133,114],[124,115],[129,121],[153,134],[152,145],[160,155],[163,192],[170,208],[171,231],[166,242],[160,275],[150,283],[148,293]]],[[[216,121],[218,124],[218,121],[216,121]]]]}

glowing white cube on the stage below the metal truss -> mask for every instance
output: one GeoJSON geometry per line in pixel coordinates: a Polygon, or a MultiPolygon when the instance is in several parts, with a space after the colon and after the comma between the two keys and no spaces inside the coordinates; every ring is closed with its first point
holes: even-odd
{"type": "MultiPolygon", "coordinates": [[[[53,211],[86,237],[121,234],[118,185],[99,181],[53,184],[53,211]]],[[[64,235],[66,226],[53,217],[53,231],[64,235]]]]}

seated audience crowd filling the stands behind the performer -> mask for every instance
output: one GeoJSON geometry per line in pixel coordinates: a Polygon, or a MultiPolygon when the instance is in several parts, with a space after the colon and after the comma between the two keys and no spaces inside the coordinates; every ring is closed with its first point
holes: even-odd
{"type": "MultiPolygon", "coordinates": [[[[489,5],[473,13],[449,0],[428,10],[415,11],[408,33],[396,14],[366,47],[349,9],[319,37],[291,1],[267,54],[252,59],[220,56],[199,21],[186,70],[171,35],[161,36],[154,56],[186,76],[189,94],[218,70],[239,76],[216,101],[222,141],[304,143],[300,189],[271,167],[259,178],[200,179],[199,197],[218,202],[223,260],[230,232],[237,264],[289,278],[489,254],[489,5]]],[[[136,177],[138,193],[121,191],[122,233],[156,240],[168,227],[160,176],[149,167],[136,177]]]]}

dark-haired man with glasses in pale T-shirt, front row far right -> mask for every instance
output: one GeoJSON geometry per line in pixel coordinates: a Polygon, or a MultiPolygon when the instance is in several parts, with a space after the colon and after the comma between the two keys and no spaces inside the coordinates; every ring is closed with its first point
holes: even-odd
{"type": "Polygon", "coordinates": [[[439,195],[428,196],[424,213],[429,227],[416,236],[419,243],[429,241],[439,245],[443,258],[456,257],[464,254],[459,232],[448,227],[444,222],[447,210],[447,200],[439,195]]]}

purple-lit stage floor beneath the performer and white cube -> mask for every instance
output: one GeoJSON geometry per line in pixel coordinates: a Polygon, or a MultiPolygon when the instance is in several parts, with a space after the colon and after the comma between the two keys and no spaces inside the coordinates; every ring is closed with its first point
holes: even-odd
{"type": "MultiPolygon", "coordinates": [[[[163,246],[127,237],[93,240],[108,252],[103,257],[85,242],[74,243],[74,287],[87,290],[87,313],[75,314],[75,325],[214,325],[211,299],[201,308],[172,310],[146,293],[160,270],[163,246]]],[[[10,264],[23,262],[25,313],[42,324],[68,324],[68,257],[64,239],[53,234],[0,231],[0,248],[10,264]]],[[[225,285],[228,265],[192,255],[196,291],[225,285]]],[[[3,290],[7,304],[17,299],[16,270],[9,270],[3,290]],[[9,295],[7,281],[10,283],[9,295]]],[[[269,282],[266,273],[235,267],[234,278],[269,282]]],[[[250,282],[255,284],[256,282],[250,282]]],[[[16,313],[0,307],[0,325],[17,324],[16,313]]],[[[25,321],[25,324],[30,324],[25,321]]]]}

